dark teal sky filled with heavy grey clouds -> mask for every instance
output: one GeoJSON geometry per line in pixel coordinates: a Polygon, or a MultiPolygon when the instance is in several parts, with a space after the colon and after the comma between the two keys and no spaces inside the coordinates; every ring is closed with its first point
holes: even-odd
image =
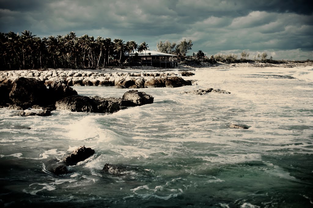
{"type": "MultiPolygon", "coordinates": [[[[193,42],[207,56],[247,51],[313,59],[312,0],[0,0],[0,31],[193,42]]],[[[240,57],[240,55],[239,55],[240,57]]]]}

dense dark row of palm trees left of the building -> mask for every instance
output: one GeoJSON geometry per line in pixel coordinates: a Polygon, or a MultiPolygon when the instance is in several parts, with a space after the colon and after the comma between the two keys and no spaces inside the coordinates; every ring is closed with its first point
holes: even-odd
{"type": "MultiPolygon", "coordinates": [[[[124,53],[137,54],[147,50],[146,42],[88,36],[75,32],[65,36],[36,37],[28,30],[21,35],[0,32],[1,69],[96,68],[120,66],[124,53]]],[[[132,57],[132,60],[134,58],[132,57]]]]}

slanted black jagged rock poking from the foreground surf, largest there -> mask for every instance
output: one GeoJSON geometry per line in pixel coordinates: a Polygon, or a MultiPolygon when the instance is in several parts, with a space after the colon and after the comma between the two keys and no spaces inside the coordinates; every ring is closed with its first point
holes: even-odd
{"type": "Polygon", "coordinates": [[[72,152],[69,156],[64,158],[64,161],[69,165],[75,165],[77,162],[83,161],[93,155],[95,150],[91,148],[85,148],[85,146],[81,146],[77,148],[74,152],[72,152]]]}

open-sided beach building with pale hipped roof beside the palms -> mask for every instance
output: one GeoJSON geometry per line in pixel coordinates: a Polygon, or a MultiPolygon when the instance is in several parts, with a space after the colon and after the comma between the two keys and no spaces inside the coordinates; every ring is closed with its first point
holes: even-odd
{"type": "Polygon", "coordinates": [[[154,66],[162,68],[175,68],[178,66],[178,56],[158,51],[142,51],[140,53],[125,54],[125,59],[130,65],[154,66]]]}

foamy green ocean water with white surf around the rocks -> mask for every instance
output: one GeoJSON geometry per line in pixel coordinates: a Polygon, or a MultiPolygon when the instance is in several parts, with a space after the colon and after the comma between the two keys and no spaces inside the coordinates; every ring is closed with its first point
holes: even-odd
{"type": "MultiPolygon", "coordinates": [[[[312,66],[192,72],[183,78],[197,85],[138,89],[154,103],[113,114],[0,109],[0,206],[313,207],[312,66]],[[182,93],[207,88],[231,94],[182,93]],[[95,154],[66,175],[47,171],[83,145],[95,154]],[[103,172],[106,163],[123,172],[103,172]]],[[[73,88],[100,97],[129,90],[73,88]]]]}

